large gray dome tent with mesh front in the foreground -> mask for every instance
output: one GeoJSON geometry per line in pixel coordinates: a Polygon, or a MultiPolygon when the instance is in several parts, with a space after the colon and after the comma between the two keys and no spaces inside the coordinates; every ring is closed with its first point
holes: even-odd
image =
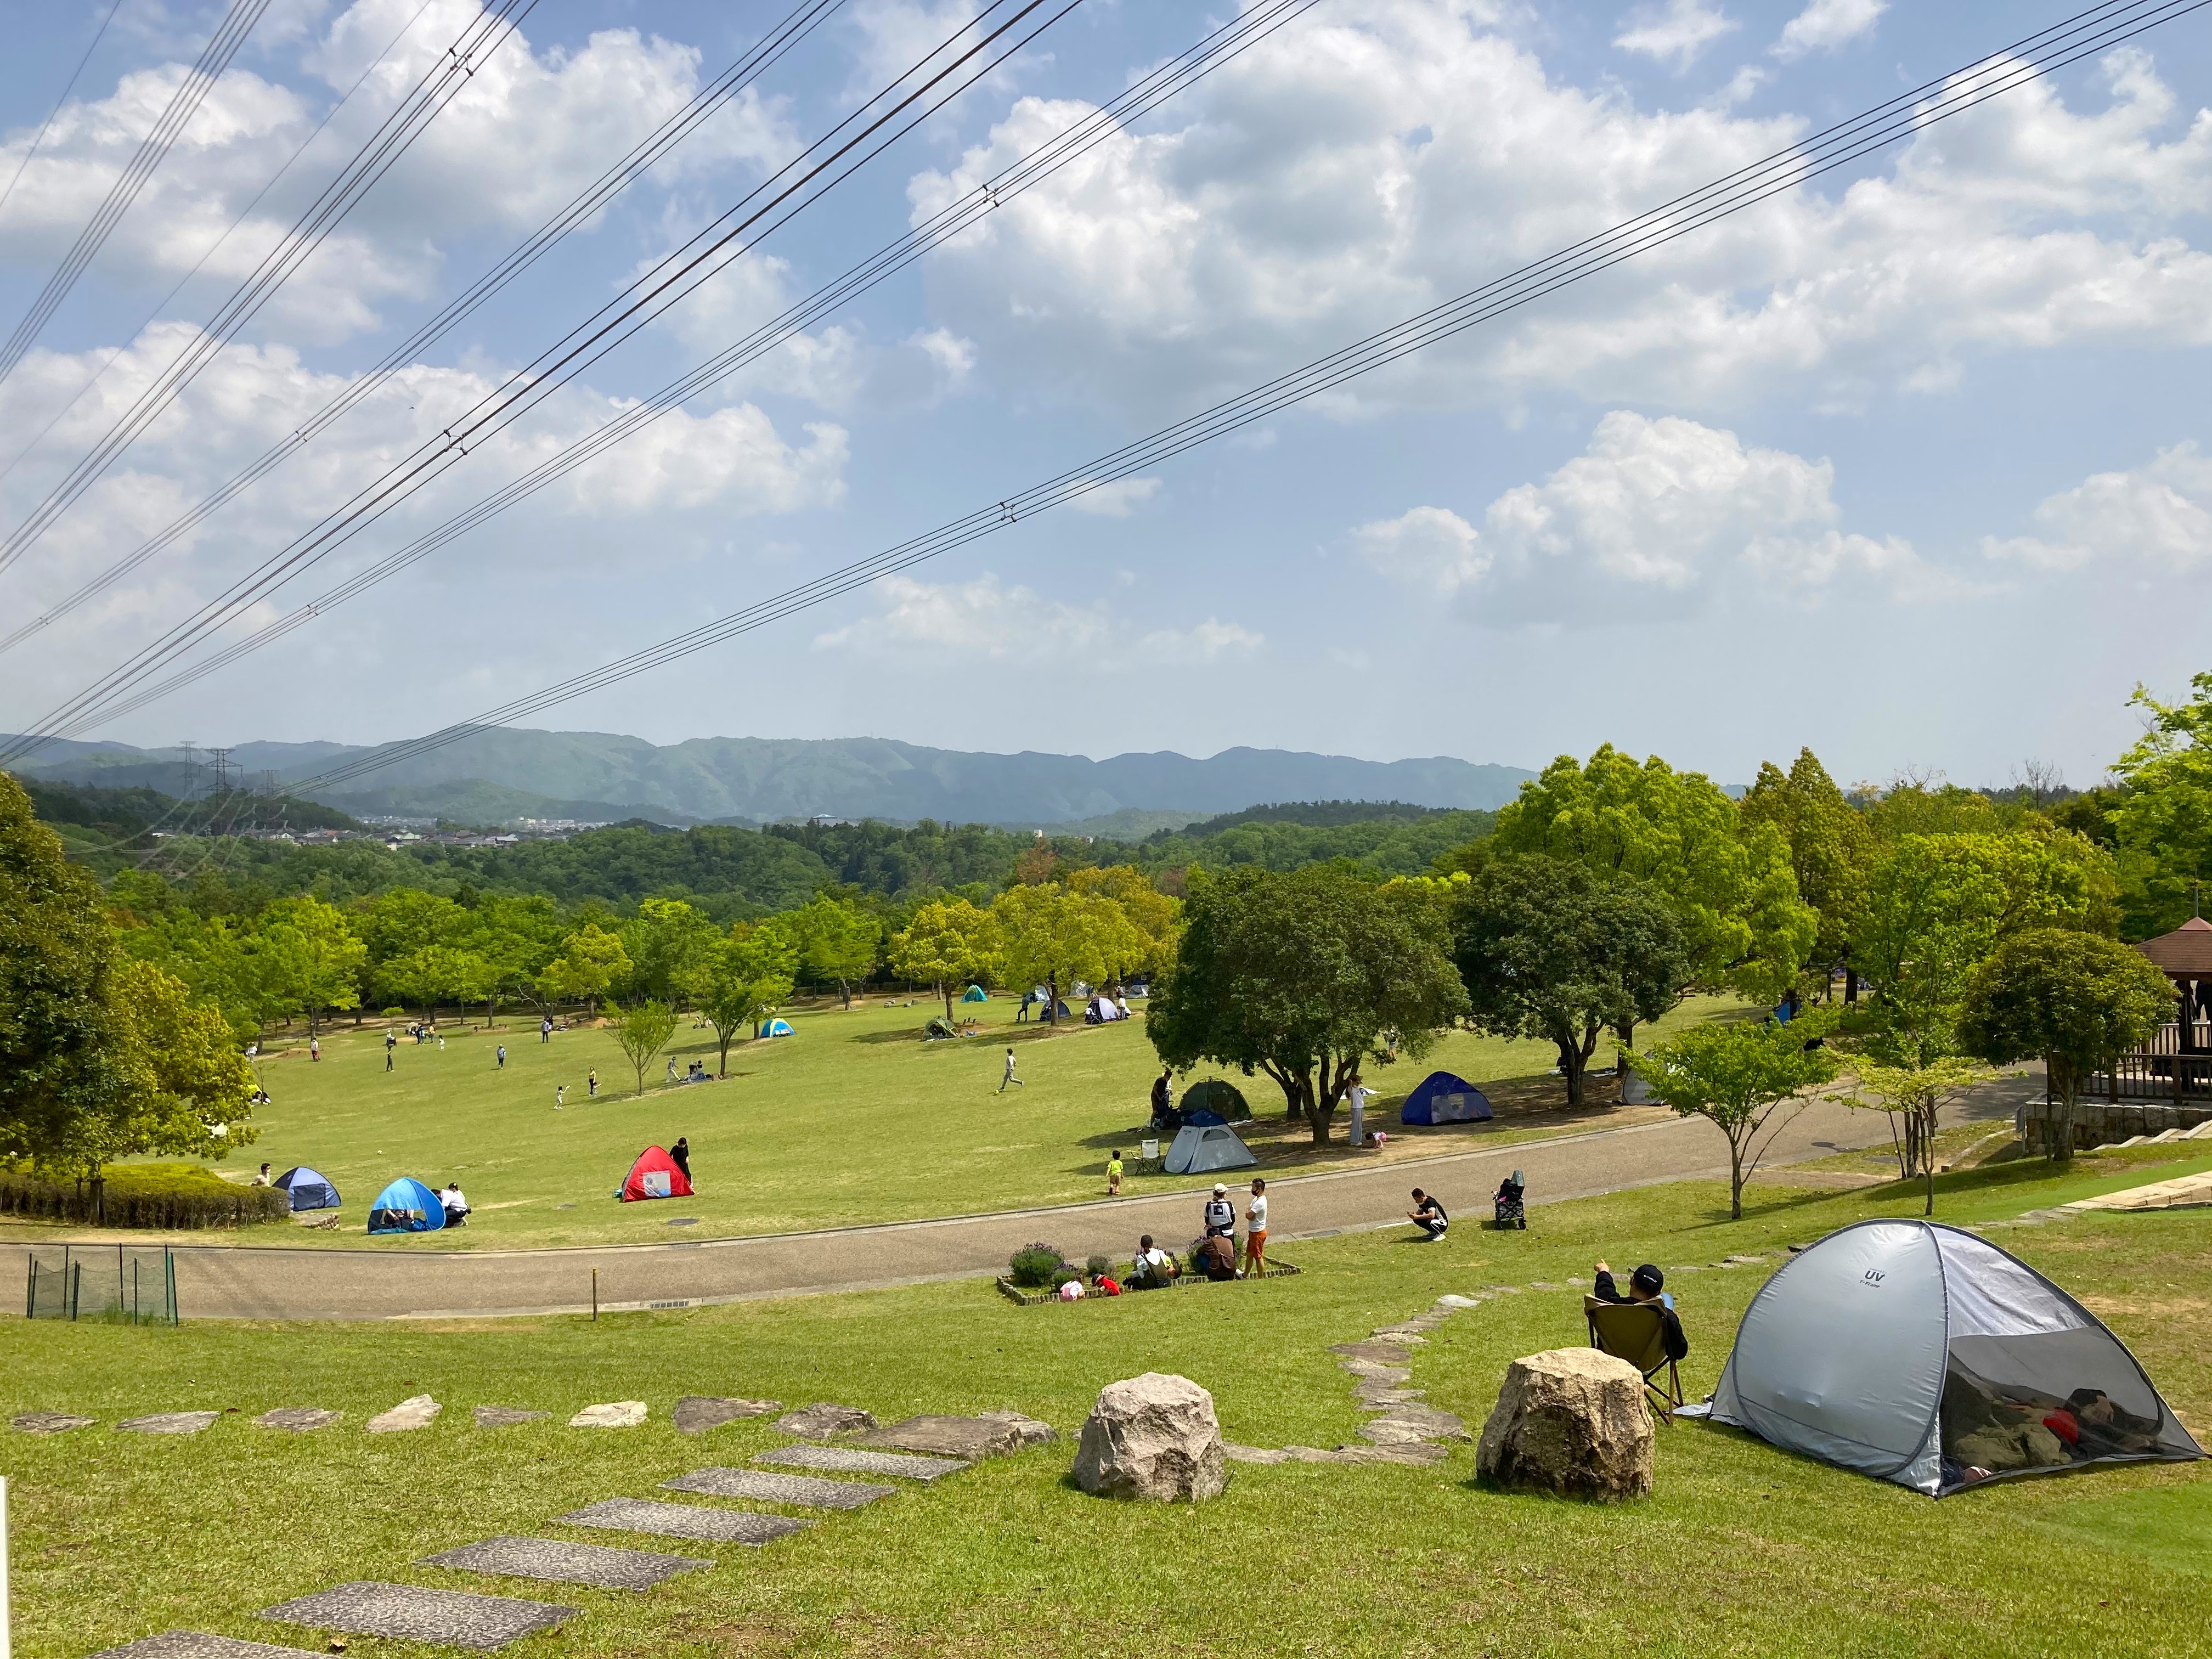
{"type": "Polygon", "coordinates": [[[1785,1263],[1743,1310],[1712,1420],[1931,1498],[2203,1455],[2095,1314],[1931,1221],[1860,1221],[1785,1263]]]}

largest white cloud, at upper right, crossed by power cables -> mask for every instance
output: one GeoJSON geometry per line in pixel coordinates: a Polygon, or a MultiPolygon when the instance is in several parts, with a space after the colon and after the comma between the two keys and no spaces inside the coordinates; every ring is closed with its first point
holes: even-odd
{"type": "MultiPolygon", "coordinates": [[[[1803,122],[1564,84],[1464,0],[1343,0],[1099,144],[927,268],[978,376],[1159,418],[1785,148],[1803,122]]],[[[2212,115],[2121,51],[1354,383],[1338,414],[1542,394],[1854,407],[1986,354],[2212,343],[2212,115]]],[[[1020,100],[909,186],[936,212],[1084,106],[1020,100]]]]}

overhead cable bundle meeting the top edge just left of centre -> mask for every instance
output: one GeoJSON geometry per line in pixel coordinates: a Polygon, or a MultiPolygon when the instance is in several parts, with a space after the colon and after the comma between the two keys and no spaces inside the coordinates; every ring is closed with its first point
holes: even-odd
{"type": "MultiPolygon", "coordinates": [[[[241,602],[239,595],[281,582],[292,568],[319,557],[323,549],[392,511],[407,495],[416,493],[429,480],[467,458],[471,445],[480,445],[484,438],[495,436],[504,427],[520,420],[553,392],[566,385],[575,374],[604,358],[630,336],[639,334],[657,316],[666,314],[679,301],[697,292],[710,276],[743,257],[743,252],[759,241],[759,237],[748,239],[748,232],[759,228],[761,234],[768,234],[779,226],[790,223],[790,219],[814,201],[821,201],[823,195],[858,173],[869,159],[911,133],[929,119],[929,115],[945,108],[945,104],[960,97],[960,93],[1020,53],[1029,42],[1037,40],[1037,35],[1066,18],[1079,4],[1084,4],[1084,0],[993,0],[984,7],[978,20],[956,29],[945,44],[929,51],[889,88],[838,122],[825,137],[801,150],[801,155],[787,161],[776,175],[750,190],[737,208],[730,208],[712,226],[695,234],[684,248],[630,283],[624,294],[602,305],[588,319],[568,330],[568,334],[564,334],[555,345],[546,347],[538,354],[538,358],[511,374],[495,392],[487,394],[473,409],[469,409],[469,414],[449,422],[438,438],[420,445],[407,460],[387,469],[383,478],[358,491],[345,507],[330,513],[321,524],[296,538],[279,555],[263,562],[252,575],[232,584],[223,595],[204,606],[197,617],[177,624],[168,635],[142,650],[128,664],[80,692],[71,699],[71,706],[58,710],[58,717],[62,721],[73,719],[80,708],[108,699],[124,686],[159,670],[168,659],[190,648],[210,628],[221,626],[230,611],[241,602]],[[1044,11],[1048,2],[1057,9],[1044,15],[1042,22],[1031,22],[1031,15],[1044,11]],[[984,29],[982,24],[993,11],[1006,11],[1006,15],[984,29]],[[973,42],[962,46],[962,42],[971,35],[973,42]],[[947,53],[951,53],[949,62],[931,69],[931,64],[947,53]],[[916,80],[911,88],[907,86],[909,80],[916,80]],[[883,111],[872,115],[878,106],[883,106],[883,111]],[[863,122],[863,117],[867,119],[863,122]],[[858,131],[845,137],[845,128],[856,124],[858,131]],[[894,128],[894,124],[898,126],[894,128]],[[863,146],[872,148],[858,153],[863,146]],[[818,150],[827,153],[821,155],[821,159],[812,159],[818,150]],[[781,184],[781,188],[774,188],[785,175],[796,177],[781,184]],[[818,188],[807,195],[810,186],[818,188]],[[741,215],[748,201],[772,188],[774,192],[759,208],[741,215]],[[772,217],[774,221],[770,223],[772,217]]],[[[42,726],[40,730],[44,732],[46,728],[42,726]]]]}

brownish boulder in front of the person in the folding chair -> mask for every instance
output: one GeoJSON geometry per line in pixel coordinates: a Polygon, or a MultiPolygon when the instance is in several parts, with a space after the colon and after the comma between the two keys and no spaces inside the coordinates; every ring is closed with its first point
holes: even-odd
{"type": "Polygon", "coordinates": [[[1506,1367],[1475,1471],[1566,1498],[1650,1498],[1652,1413],[1644,1374],[1595,1347],[1555,1347],[1506,1367]]]}

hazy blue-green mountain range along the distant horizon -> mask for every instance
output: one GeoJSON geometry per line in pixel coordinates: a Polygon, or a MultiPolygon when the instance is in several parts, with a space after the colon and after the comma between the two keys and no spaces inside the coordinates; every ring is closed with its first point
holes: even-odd
{"type": "MultiPolygon", "coordinates": [[[[347,743],[237,743],[230,768],[290,785],[372,754],[347,743]]],[[[201,752],[204,754],[204,752],[201,752]]],[[[179,750],[126,743],[51,743],[11,768],[22,776],[186,794],[206,787],[179,750]]],[[[772,823],[779,818],[938,818],[947,823],[1068,825],[1113,814],[1190,818],[1267,801],[1407,801],[1425,807],[1500,807],[1517,765],[1358,761],[1292,750],[1186,754],[969,754],[876,737],[825,741],[697,737],[655,745],[608,732],[478,732],[398,761],[341,790],[330,805],[361,814],[513,818],[655,818],[659,823],[772,823]]],[[[1157,827],[1157,825],[1155,825],[1157,827]]]]}

